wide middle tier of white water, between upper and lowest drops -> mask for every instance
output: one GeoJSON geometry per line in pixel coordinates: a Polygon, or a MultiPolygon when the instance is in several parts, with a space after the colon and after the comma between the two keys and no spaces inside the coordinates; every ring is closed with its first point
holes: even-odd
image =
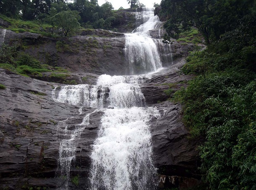
{"type": "Polygon", "coordinates": [[[144,106],[145,98],[138,85],[140,76],[103,74],[97,85],[67,85],[55,88],[52,98],[57,102],[92,108],[131,108],[144,106]]]}

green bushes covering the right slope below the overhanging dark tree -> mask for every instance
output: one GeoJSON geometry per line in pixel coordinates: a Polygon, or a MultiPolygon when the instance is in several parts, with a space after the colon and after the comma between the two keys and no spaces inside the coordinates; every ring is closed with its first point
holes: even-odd
{"type": "Polygon", "coordinates": [[[191,138],[205,139],[199,146],[200,169],[211,189],[253,189],[256,74],[239,67],[227,68],[230,60],[225,59],[226,54],[218,56],[201,52],[188,57],[189,72],[196,71],[199,76],[189,81],[186,89],[175,92],[173,100],[183,103],[183,123],[190,129],[191,138]],[[221,63],[222,71],[212,72],[212,67],[220,69],[221,63]],[[204,64],[207,69],[199,71],[204,64]]]}

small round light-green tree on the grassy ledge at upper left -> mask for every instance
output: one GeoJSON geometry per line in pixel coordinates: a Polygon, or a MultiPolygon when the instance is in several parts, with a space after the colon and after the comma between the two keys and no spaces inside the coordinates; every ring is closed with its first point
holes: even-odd
{"type": "Polygon", "coordinates": [[[74,32],[80,26],[79,19],[79,12],[71,10],[61,11],[53,17],[55,25],[62,29],[64,36],[74,32]]]}

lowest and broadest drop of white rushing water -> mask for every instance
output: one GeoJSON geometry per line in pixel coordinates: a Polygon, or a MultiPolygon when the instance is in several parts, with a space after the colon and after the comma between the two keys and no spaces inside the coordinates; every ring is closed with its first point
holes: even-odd
{"type": "Polygon", "coordinates": [[[156,108],[104,111],[102,127],[91,154],[91,189],[153,190],[149,120],[156,108]]]}

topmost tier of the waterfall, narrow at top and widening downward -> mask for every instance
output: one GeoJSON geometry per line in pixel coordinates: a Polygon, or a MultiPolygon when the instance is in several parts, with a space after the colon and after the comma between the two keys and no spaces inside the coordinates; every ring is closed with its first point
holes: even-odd
{"type": "Polygon", "coordinates": [[[145,23],[138,26],[133,33],[125,34],[125,56],[128,60],[128,74],[141,74],[157,71],[162,67],[157,45],[148,35],[148,31],[157,28],[159,18],[153,9],[143,8],[142,14],[136,14],[136,21],[145,23]]]}

